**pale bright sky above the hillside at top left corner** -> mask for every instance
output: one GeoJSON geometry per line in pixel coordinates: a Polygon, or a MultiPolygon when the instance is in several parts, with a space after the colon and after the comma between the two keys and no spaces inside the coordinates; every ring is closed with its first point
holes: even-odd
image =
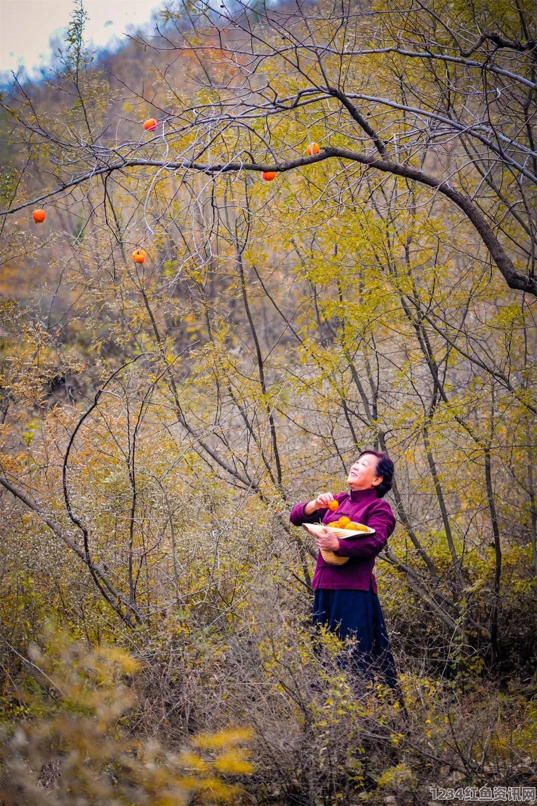
{"type": "MultiPolygon", "coordinates": [[[[84,6],[89,14],[86,43],[115,48],[125,41],[127,29],[150,22],[151,12],[163,2],[85,0],[84,6]]],[[[0,79],[9,81],[10,70],[21,66],[27,77],[38,78],[39,68],[50,62],[51,42],[63,39],[72,9],[72,0],[0,0],[0,79]]]]}

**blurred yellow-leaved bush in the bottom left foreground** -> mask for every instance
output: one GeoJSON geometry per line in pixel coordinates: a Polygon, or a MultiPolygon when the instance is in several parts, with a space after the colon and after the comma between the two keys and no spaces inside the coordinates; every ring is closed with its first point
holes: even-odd
{"type": "Polygon", "coordinates": [[[200,734],[176,754],[128,731],[139,664],[126,652],[87,650],[48,629],[17,681],[17,718],[0,729],[2,806],[177,806],[242,800],[253,767],[249,729],[200,734]],[[20,707],[22,704],[22,708],[20,707]]]}

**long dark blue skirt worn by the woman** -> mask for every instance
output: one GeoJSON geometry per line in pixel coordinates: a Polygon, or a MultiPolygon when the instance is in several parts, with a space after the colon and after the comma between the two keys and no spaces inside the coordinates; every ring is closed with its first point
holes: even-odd
{"type": "MultiPolygon", "coordinates": [[[[350,671],[359,671],[367,678],[380,671],[390,688],[399,689],[382,608],[371,584],[369,591],[318,588],[313,600],[312,621],[336,633],[341,641],[356,638],[349,656],[350,671]]],[[[346,663],[340,663],[343,665],[346,663]]]]}

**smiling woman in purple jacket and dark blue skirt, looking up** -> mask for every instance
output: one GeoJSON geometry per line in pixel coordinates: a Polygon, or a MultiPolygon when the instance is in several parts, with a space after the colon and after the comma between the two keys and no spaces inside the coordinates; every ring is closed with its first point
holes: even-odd
{"type": "Polygon", "coordinates": [[[382,501],[391,489],[393,476],[394,463],[386,454],[362,451],[350,468],[347,479],[350,492],[339,492],[337,496],[321,492],[313,501],[293,507],[289,520],[295,526],[303,523],[327,526],[347,515],[351,521],[375,530],[374,534],[340,540],[333,530],[327,529],[324,537],[316,537],[320,549],[332,550],[349,560],[342,565],[330,565],[319,551],[312,580],[313,624],[326,625],[341,640],[356,638],[353,665],[366,674],[372,667],[380,668],[403,705],[373,573],[375,557],[395,528],[394,513],[388,502],[382,501]],[[328,508],[334,499],[338,502],[337,512],[328,508]]]}

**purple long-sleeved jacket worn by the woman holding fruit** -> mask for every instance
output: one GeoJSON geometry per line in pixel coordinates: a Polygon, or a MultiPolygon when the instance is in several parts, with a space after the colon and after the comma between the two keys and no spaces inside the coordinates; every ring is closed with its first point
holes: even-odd
{"type": "Polygon", "coordinates": [[[351,521],[363,523],[375,530],[375,534],[364,534],[363,537],[344,538],[340,540],[339,550],[335,554],[350,559],[343,565],[330,565],[325,563],[319,552],[317,565],[312,580],[312,588],[330,588],[330,590],[368,591],[370,581],[373,590],[377,592],[373,567],[375,557],[381,551],[390,534],[395,528],[394,513],[387,501],[377,498],[374,488],[369,490],[351,490],[338,492],[335,496],[339,501],[336,512],[331,509],[317,509],[312,515],[304,515],[304,506],[308,501],[297,504],[291,509],[289,520],[295,526],[303,523],[324,523],[328,526],[330,521],[337,521],[341,515],[346,515],[351,521]]]}

